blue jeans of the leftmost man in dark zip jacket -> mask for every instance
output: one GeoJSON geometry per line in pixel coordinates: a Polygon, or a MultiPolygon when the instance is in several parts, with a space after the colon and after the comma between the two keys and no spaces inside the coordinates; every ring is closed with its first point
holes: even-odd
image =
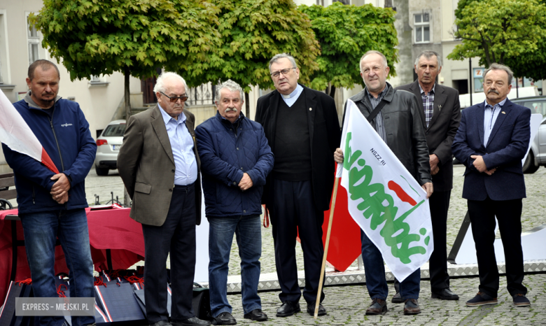
{"type": "MultiPolygon", "coordinates": [[[[59,241],[69,268],[70,297],[94,297],[93,261],[85,209],[20,215],[25,234],[34,297],[59,297],[55,288],[55,242],[59,241]]],[[[41,317],[39,325],[62,325],[64,317],[41,317]]],[[[94,323],[94,316],[73,316],[72,325],[94,323]]]]}

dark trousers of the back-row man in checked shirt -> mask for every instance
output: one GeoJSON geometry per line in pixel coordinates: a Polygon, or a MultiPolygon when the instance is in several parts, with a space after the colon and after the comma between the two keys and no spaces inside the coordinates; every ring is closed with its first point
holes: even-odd
{"type": "Polygon", "coordinates": [[[442,289],[449,288],[446,249],[449,197],[451,197],[451,190],[434,192],[428,199],[434,239],[434,251],[428,260],[430,290],[432,292],[440,292],[442,289]]]}

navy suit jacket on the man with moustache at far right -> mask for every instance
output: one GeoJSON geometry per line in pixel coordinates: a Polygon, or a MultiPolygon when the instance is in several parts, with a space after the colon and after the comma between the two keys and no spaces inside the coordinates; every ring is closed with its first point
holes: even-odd
{"type": "Polygon", "coordinates": [[[531,110],[509,99],[498,113],[486,146],[484,140],[484,103],[465,108],[461,125],[453,142],[453,154],[465,164],[463,198],[510,200],[525,198],[525,181],[521,160],[531,138],[531,110]],[[470,155],[482,155],[493,175],[479,173],[470,155]]]}

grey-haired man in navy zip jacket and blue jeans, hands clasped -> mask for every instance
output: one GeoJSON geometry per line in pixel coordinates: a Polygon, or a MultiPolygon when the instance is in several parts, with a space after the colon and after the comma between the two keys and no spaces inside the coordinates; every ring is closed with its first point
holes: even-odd
{"type": "Polygon", "coordinates": [[[263,128],[241,113],[244,93],[232,80],[216,88],[216,116],[195,128],[209,220],[209,289],[214,325],[235,325],[228,302],[233,234],[241,257],[244,318],[267,320],[258,296],[262,187],[273,169],[263,128]]]}

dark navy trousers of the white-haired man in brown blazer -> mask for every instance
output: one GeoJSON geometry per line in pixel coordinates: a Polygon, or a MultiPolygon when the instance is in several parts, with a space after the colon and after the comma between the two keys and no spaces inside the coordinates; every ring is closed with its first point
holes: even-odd
{"type": "Polygon", "coordinates": [[[174,322],[194,316],[192,309],[195,274],[195,190],[193,185],[175,186],[167,220],[162,226],[142,225],[144,248],[144,297],[146,317],[153,324],[168,320],[167,255],[171,253],[171,316],[174,322]]]}

